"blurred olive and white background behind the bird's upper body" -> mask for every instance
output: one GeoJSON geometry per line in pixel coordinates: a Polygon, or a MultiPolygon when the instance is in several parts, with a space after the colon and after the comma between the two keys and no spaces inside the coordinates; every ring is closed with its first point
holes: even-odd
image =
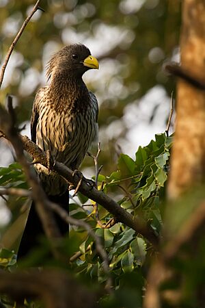
{"type": "MultiPolygon", "coordinates": [[[[35,93],[46,84],[46,62],[65,44],[81,42],[98,58],[100,69],[84,76],[98,98],[99,164],[108,175],[117,168],[119,153],[135,157],[155,133],[165,131],[174,80],[163,64],[179,61],[180,1],[178,0],[42,0],[10,59],[0,94],[14,95],[23,133],[29,136],[29,118],[35,93]]],[[[0,0],[0,58],[34,1],[0,0]]],[[[173,129],[173,128],[172,128],[173,129]]],[[[8,142],[0,140],[0,166],[14,159],[8,142]]],[[[85,159],[85,175],[94,175],[93,162],[85,159]]],[[[1,200],[0,200],[1,202],[1,200]]],[[[10,211],[0,203],[0,224],[10,211]]]]}

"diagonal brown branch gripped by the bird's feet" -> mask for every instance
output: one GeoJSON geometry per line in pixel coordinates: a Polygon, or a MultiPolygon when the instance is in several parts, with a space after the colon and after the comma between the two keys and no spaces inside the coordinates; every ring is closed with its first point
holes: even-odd
{"type": "MultiPolygon", "coordinates": [[[[31,155],[34,161],[40,162],[43,166],[46,166],[46,155],[45,153],[27,136],[21,136],[20,139],[23,142],[25,151],[31,155]]],[[[68,182],[73,185],[77,185],[79,182],[79,176],[77,174],[73,175],[73,171],[66,167],[64,164],[55,162],[54,166],[51,166],[51,170],[57,172],[61,177],[64,177],[68,182]]],[[[154,246],[159,244],[159,237],[154,233],[152,227],[147,224],[143,218],[134,217],[129,214],[128,211],[120,207],[113,199],[107,196],[104,192],[97,190],[92,187],[87,180],[83,178],[79,191],[90,198],[91,200],[99,203],[102,207],[105,207],[115,217],[117,222],[122,222],[126,226],[131,227],[137,233],[143,235],[148,241],[150,241],[154,246]]]]}

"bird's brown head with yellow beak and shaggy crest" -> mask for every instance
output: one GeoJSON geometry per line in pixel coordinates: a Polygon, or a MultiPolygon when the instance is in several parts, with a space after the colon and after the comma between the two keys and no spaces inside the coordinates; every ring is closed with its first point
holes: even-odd
{"type": "Polygon", "coordinates": [[[98,60],[83,44],[72,44],[55,53],[47,66],[48,79],[55,73],[82,77],[91,68],[99,68],[98,60]]]}

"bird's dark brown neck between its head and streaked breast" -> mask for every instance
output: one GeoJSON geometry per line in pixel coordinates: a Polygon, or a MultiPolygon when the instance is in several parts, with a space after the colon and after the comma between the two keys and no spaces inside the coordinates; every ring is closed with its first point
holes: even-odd
{"type": "Polygon", "coordinates": [[[89,103],[89,92],[82,77],[54,75],[49,86],[49,97],[57,110],[85,109],[89,103]]]}

